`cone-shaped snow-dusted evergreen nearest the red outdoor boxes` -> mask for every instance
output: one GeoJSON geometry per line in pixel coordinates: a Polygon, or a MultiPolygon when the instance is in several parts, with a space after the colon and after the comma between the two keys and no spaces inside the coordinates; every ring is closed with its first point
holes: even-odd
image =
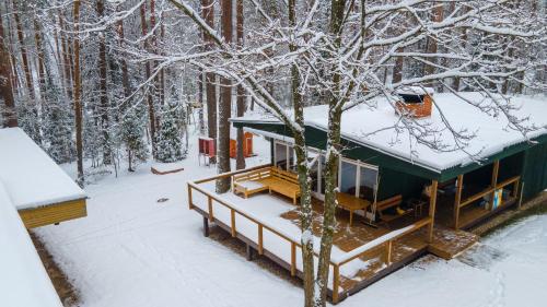
{"type": "Polygon", "coordinates": [[[158,162],[171,163],[185,158],[174,110],[171,107],[164,111],[160,130],[156,135],[158,162]]]}

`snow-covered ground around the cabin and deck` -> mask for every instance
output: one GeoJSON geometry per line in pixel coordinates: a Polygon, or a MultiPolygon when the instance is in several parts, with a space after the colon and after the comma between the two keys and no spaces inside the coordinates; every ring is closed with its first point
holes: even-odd
{"type": "MultiPolygon", "coordinates": [[[[266,142],[255,140],[255,149],[249,165],[269,162],[266,142]]],[[[36,231],[82,306],[302,305],[300,287],[203,238],[200,216],[187,206],[186,181],[216,170],[198,166],[196,151],[181,173],[158,176],[142,165],[96,178],[85,188],[88,217],[36,231]]],[[[547,215],[533,216],[459,259],[415,262],[339,306],[545,306],[545,259],[547,215]]]]}

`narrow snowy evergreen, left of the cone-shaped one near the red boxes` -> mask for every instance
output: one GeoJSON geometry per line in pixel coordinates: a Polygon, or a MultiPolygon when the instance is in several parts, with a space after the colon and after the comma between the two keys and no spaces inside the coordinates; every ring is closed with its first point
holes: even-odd
{"type": "Polygon", "coordinates": [[[148,149],[143,140],[142,119],[139,118],[136,111],[129,111],[121,122],[121,142],[127,150],[127,160],[129,172],[135,172],[135,166],[140,162],[146,162],[148,158],[148,149]]]}

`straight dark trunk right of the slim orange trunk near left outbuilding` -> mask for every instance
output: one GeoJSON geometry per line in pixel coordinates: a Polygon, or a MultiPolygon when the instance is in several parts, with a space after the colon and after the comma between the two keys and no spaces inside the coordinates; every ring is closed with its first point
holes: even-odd
{"type": "MultiPolygon", "coordinates": [[[[104,1],[97,0],[97,15],[104,17],[104,1]]],[[[112,164],[110,138],[108,134],[108,88],[106,85],[106,33],[98,33],[98,99],[101,105],[101,132],[103,133],[103,164],[112,164]]]]}

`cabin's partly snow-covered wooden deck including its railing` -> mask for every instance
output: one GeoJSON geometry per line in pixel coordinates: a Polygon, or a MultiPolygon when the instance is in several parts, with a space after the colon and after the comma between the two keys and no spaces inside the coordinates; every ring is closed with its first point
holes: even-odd
{"type": "MultiPolygon", "coordinates": [[[[231,194],[231,197],[226,198],[205,188],[203,185],[219,177],[188,184],[189,209],[203,216],[203,234],[208,235],[209,223],[213,222],[233,237],[246,244],[248,259],[253,258],[252,255],[267,257],[287,269],[291,275],[302,278],[301,263],[299,263],[301,252],[300,232],[298,231],[300,228],[299,206],[292,206],[289,198],[276,193],[268,194],[265,191],[263,196],[257,198],[277,198],[276,202],[284,203],[283,206],[288,206],[289,210],[278,211],[281,213],[276,213],[270,217],[255,217],[257,216],[256,212],[253,212],[256,210],[257,203],[253,202],[253,197],[243,199],[231,194]],[[198,196],[200,198],[199,203],[196,202],[198,196]],[[242,203],[237,204],[240,201],[242,203]],[[220,213],[222,208],[225,212],[224,217],[220,213]],[[212,212],[214,214],[211,214],[212,212]],[[261,221],[261,219],[266,220],[261,221]],[[277,227],[276,223],[271,223],[276,219],[289,221],[295,226],[293,229],[298,235],[287,233],[287,229],[282,226],[277,227]],[[242,225],[241,223],[246,225],[246,233],[243,231],[243,226],[238,226],[242,225]],[[256,227],[251,233],[248,233],[249,223],[256,227]],[[258,232],[258,235],[256,235],[256,232],[258,232]],[[269,234],[267,240],[264,237],[266,232],[269,234]],[[290,250],[289,257],[287,253],[279,253],[279,250],[270,249],[267,246],[268,243],[271,244],[272,235],[277,237],[278,246],[280,244],[282,249],[290,250]]],[[[318,237],[323,220],[323,203],[314,199],[313,210],[313,232],[318,237]]],[[[444,259],[451,259],[477,241],[476,236],[464,231],[437,226],[432,233],[431,244],[428,243],[429,226],[432,220],[427,212],[428,210],[424,209],[423,216],[407,214],[388,224],[372,227],[364,223],[362,216],[358,215],[354,215],[353,223],[350,226],[349,212],[338,210],[333,239],[334,249],[338,251],[329,265],[333,280],[328,285],[328,295],[331,302],[335,304],[341,302],[349,295],[411,263],[428,252],[444,259]]]]}

